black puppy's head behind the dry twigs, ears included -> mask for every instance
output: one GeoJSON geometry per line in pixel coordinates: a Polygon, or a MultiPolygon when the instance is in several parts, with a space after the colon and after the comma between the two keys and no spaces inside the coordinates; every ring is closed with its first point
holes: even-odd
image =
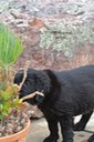
{"type": "MultiPolygon", "coordinates": [[[[20,70],[14,77],[14,83],[20,85],[23,80],[24,70],[20,70]]],[[[22,84],[19,92],[20,98],[27,97],[35,91],[43,92],[46,95],[50,92],[50,78],[44,71],[36,71],[33,69],[28,69],[27,78],[22,84]]],[[[34,95],[32,99],[28,99],[31,104],[39,104],[43,101],[44,97],[34,95]]]]}

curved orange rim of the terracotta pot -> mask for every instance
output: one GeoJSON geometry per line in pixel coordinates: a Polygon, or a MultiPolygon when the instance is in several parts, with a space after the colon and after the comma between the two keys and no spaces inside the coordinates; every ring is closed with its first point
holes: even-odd
{"type": "Polygon", "coordinates": [[[23,128],[20,132],[17,132],[17,133],[13,133],[13,134],[10,134],[10,135],[7,135],[7,136],[1,136],[0,141],[2,140],[4,142],[4,139],[18,138],[19,135],[22,135],[22,133],[23,133],[23,135],[25,135],[25,131],[30,130],[30,125],[31,125],[31,121],[30,121],[30,119],[28,119],[27,126],[23,128]]]}

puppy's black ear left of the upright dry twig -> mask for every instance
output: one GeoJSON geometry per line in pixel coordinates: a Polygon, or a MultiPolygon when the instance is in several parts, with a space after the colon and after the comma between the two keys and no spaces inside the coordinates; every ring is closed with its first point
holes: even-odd
{"type": "Polygon", "coordinates": [[[13,79],[13,83],[17,83],[18,85],[22,82],[23,79],[23,70],[19,71],[13,79]]]}

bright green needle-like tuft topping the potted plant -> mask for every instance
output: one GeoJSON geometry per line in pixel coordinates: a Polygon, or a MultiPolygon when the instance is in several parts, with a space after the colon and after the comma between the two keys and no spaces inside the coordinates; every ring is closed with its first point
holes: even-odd
{"type": "Polygon", "coordinates": [[[15,37],[13,32],[0,23],[0,65],[9,68],[22,53],[22,42],[20,37],[15,37]]]}

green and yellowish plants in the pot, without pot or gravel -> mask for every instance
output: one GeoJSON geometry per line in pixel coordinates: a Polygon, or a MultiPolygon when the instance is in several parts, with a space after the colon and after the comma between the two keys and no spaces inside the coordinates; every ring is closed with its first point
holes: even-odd
{"type": "Polygon", "coordinates": [[[13,84],[14,71],[12,64],[22,53],[22,42],[19,37],[0,23],[0,121],[4,121],[13,109],[20,109],[19,87],[13,84]]]}

